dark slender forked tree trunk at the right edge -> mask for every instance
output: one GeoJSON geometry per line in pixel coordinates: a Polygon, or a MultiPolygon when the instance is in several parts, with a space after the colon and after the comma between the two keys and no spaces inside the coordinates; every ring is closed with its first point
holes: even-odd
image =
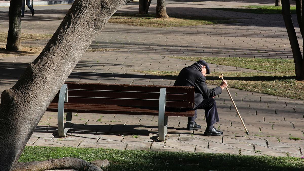
{"type": "MultiPolygon", "coordinates": [[[[303,20],[302,20],[302,0],[297,4],[297,17],[300,25],[300,31],[303,35],[303,20]],[[301,8],[298,8],[300,5],[301,8]],[[298,16],[299,15],[299,16],[298,16]]],[[[292,18],[290,14],[290,4],[289,0],[282,0],[282,15],[285,22],[285,27],[288,33],[288,38],[290,46],[292,49],[293,60],[295,62],[295,76],[297,80],[304,80],[304,60],[302,58],[301,50],[299,47],[299,42],[297,39],[297,34],[295,33],[295,28],[292,23],[292,18]]]]}

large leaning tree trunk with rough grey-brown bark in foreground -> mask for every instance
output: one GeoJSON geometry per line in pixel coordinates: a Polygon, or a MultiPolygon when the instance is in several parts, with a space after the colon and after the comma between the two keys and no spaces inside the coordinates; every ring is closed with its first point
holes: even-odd
{"type": "Polygon", "coordinates": [[[131,0],[76,0],[36,60],[1,95],[0,170],[11,170],[47,107],[109,18],[131,0]]]}

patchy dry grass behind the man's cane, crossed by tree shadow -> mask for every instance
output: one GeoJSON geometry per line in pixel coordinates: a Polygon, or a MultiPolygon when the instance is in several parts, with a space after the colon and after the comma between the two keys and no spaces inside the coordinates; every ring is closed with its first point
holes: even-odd
{"type": "MultiPolygon", "coordinates": [[[[197,61],[202,58],[174,57],[197,61]]],[[[268,71],[257,72],[211,72],[206,76],[206,83],[219,85],[219,75],[223,74],[228,81],[229,88],[288,97],[304,100],[304,82],[295,80],[293,60],[289,59],[261,59],[261,58],[203,58],[208,63],[228,65],[242,68],[268,71]]],[[[176,78],[179,71],[136,71],[151,75],[164,75],[176,78]]]]}

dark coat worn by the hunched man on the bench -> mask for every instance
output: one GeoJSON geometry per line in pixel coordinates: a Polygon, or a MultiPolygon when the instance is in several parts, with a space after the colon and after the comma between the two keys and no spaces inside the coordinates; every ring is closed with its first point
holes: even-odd
{"type": "Polygon", "coordinates": [[[206,77],[202,74],[202,68],[196,62],[181,70],[174,85],[194,87],[194,108],[202,103],[203,99],[209,99],[222,93],[222,88],[219,86],[214,89],[208,89],[206,77]]]}

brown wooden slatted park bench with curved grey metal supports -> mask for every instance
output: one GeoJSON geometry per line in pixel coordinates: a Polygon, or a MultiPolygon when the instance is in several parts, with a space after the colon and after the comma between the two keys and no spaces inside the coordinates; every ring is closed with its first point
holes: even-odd
{"type": "Polygon", "coordinates": [[[60,137],[71,127],[73,112],[158,115],[158,136],[164,141],[168,116],[194,116],[185,110],[193,106],[194,87],[65,82],[47,111],[58,112],[60,137]]]}

